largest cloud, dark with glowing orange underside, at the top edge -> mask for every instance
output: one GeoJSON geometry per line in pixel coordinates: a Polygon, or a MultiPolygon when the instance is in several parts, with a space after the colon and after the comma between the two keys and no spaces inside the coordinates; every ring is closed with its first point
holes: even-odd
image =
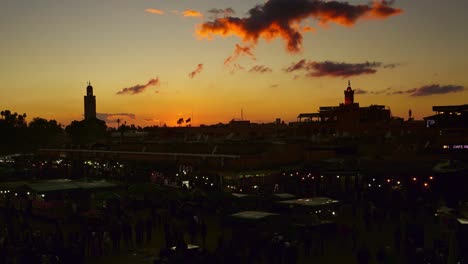
{"type": "Polygon", "coordinates": [[[287,50],[294,53],[302,49],[303,31],[295,25],[303,20],[353,26],[359,19],[385,19],[402,12],[391,7],[391,2],[378,0],[367,5],[326,0],[269,0],[250,9],[247,17],[225,16],[202,23],[196,34],[208,39],[235,35],[253,45],[260,38],[282,38],[287,50]]]}

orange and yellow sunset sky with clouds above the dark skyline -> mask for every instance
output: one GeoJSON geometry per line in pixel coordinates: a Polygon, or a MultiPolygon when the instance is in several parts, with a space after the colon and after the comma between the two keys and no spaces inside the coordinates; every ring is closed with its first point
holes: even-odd
{"type": "Polygon", "coordinates": [[[468,103],[468,1],[2,0],[0,108],[108,125],[294,121],[343,101],[468,103]],[[257,6],[256,9],[253,9],[257,6]],[[251,10],[249,12],[249,10],[251,10]]]}

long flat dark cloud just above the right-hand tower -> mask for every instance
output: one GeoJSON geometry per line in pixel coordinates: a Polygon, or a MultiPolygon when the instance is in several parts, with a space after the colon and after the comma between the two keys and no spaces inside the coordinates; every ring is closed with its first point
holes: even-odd
{"type": "Polygon", "coordinates": [[[364,62],[364,63],[345,63],[333,61],[306,61],[300,60],[285,68],[286,72],[305,71],[308,77],[350,77],[363,74],[374,74],[377,68],[380,68],[380,62],[364,62]]]}

